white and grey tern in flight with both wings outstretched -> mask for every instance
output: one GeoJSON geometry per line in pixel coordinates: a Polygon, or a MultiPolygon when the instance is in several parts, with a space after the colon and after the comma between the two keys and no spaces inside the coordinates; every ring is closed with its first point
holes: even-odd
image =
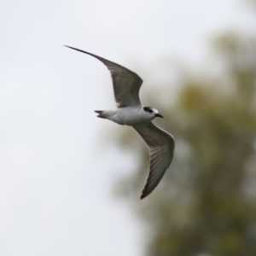
{"type": "Polygon", "coordinates": [[[64,45],[86,55],[95,57],[108,67],[113,82],[113,95],[117,105],[113,110],[96,110],[97,117],[109,119],[119,125],[131,126],[143,138],[149,152],[149,174],[141,199],[153,192],[171,165],[175,141],[172,134],[152,123],[156,117],[163,118],[156,108],[144,107],[139,98],[143,84],[137,73],[113,61],[72,46],[64,45]]]}

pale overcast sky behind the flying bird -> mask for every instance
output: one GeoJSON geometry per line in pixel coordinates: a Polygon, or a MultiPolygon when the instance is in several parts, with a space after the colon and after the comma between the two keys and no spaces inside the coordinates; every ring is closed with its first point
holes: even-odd
{"type": "Polygon", "coordinates": [[[254,30],[242,2],[1,1],[0,255],[142,255],[142,225],[113,196],[135,157],[94,113],[115,106],[108,70],[63,44],[135,72],[197,65],[216,33],[254,30]]]}

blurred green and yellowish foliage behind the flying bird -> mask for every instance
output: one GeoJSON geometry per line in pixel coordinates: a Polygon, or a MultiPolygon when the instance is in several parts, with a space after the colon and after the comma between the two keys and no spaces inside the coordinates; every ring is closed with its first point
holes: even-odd
{"type": "Polygon", "coordinates": [[[150,234],[145,255],[256,255],[256,41],[226,34],[214,48],[218,79],[186,76],[175,106],[152,102],[177,146],[159,187],[143,201],[147,148],[119,130],[123,145],[141,154],[140,172],[130,183],[125,177],[122,188],[150,234]]]}

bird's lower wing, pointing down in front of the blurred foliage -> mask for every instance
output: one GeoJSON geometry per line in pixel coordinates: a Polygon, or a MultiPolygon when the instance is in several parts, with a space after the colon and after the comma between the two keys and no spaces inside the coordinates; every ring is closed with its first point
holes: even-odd
{"type": "Polygon", "coordinates": [[[166,169],[170,166],[175,143],[171,134],[161,130],[152,122],[133,126],[133,128],[143,137],[150,156],[148,180],[141,195],[141,199],[143,199],[156,188],[166,169]]]}

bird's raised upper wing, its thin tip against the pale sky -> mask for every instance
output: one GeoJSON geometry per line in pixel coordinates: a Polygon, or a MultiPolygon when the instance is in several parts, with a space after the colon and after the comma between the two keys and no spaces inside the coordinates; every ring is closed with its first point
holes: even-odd
{"type": "Polygon", "coordinates": [[[113,81],[113,93],[115,102],[118,104],[119,108],[126,106],[140,106],[141,102],[139,99],[139,90],[143,84],[143,79],[141,79],[137,73],[132,72],[126,67],[122,67],[117,63],[103,59],[100,56],[93,55],[82,49],[73,48],[71,46],[64,45],[68,48],[78,50],[87,55],[91,55],[102,61],[111,73],[113,81]]]}

